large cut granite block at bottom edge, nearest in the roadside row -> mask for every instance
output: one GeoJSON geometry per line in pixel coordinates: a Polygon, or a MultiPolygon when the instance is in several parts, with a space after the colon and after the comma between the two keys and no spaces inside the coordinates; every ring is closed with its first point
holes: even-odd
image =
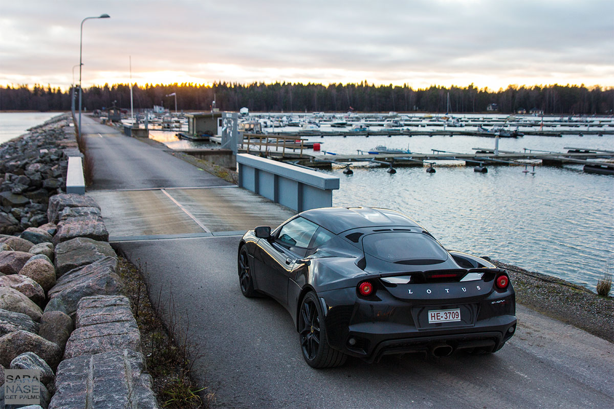
{"type": "Polygon", "coordinates": [[[55,386],[50,409],[85,408],[86,402],[99,402],[96,408],[158,408],[143,356],[131,350],[65,359],[55,386]]]}

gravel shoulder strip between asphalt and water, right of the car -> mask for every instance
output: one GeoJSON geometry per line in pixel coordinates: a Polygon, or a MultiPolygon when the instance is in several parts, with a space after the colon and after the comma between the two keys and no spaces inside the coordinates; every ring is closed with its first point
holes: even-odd
{"type": "Polygon", "coordinates": [[[508,270],[519,304],[614,342],[613,297],[600,297],[583,286],[550,275],[491,262],[508,270]]]}

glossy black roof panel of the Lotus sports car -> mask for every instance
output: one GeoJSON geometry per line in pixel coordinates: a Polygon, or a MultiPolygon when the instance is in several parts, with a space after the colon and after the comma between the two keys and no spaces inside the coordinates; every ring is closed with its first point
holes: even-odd
{"type": "Polygon", "coordinates": [[[373,207],[324,207],[305,210],[300,216],[335,234],[360,227],[420,226],[402,213],[373,207]]]}

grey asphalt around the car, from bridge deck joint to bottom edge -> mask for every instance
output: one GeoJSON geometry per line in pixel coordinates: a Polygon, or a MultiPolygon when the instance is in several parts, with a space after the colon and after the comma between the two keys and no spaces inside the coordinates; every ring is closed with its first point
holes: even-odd
{"type": "Polygon", "coordinates": [[[614,348],[527,308],[498,353],[442,359],[349,359],[309,367],[286,310],[246,299],[236,272],[239,237],[118,243],[147,261],[152,300],[174,306],[194,351],[193,373],[227,408],[612,408],[614,348]],[[160,291],[161,289],[161,291],[160,291]]]}

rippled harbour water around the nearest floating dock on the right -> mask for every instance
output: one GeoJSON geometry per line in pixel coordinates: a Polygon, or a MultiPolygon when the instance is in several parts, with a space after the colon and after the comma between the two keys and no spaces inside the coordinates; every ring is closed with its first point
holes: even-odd
{"type": "MultiPolygon", "coordinates": [[[[376,145],[427,153],[430,149],[471,152],[494,148],[483,137],[324,137],[310,138],[335,153],[356,153],[376,145]]],[[[612,136],[565,136],[501,139],[501,150],[563,147],[614,150],[612,136]]],[[[554,275],[594,291],[604,273],[614,272],[614,177],[591,175],[580,165],[488,167],[437,166],[383,168],[361,166],[353,175],[343,168],[329,174],[341,179],[333,205],[387,207],[406,213],[451,250],[467,251],[554,275]],[[532,170],[532,167],[529,167],[532,170]]]]}

